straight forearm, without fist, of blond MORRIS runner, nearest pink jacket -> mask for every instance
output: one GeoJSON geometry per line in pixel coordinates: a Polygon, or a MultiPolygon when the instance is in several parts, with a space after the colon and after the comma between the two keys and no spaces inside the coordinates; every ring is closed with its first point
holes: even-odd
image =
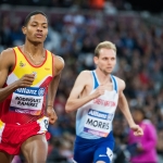
{"type": "Polygon", "coordinates": [[[124,95],[122,95],[118,99],[118,108],[121,109],[124,116],[126,117],[128,125],[131,127],[135,124],[135,122],[133,120],[131,113],[128,108],[127,100],[124,95]]]}

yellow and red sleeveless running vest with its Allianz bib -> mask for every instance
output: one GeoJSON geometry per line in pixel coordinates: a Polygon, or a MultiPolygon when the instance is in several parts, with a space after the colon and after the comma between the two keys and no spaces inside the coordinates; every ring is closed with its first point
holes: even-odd
{"type": "Polygon", "coordinates": [[[46,109],[48,86],[53,77],[53,57],[46,50],[45,62],[33,65],[18,47],[13,48],[15,66],[9,74],[5,87],[25,74],[35,74],[32,87],[18,88],[0,103],[0,118],[7,124],[26,124],[42,117],[46,109]]]}

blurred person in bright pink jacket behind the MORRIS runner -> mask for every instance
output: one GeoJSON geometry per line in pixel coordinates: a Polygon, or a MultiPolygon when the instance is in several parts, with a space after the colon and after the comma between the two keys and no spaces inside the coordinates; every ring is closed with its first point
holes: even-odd
{"type": "Polygon", "coordinates": [[[146,120],[142,109],[135,109],[133,112],[134,120],[143,129],[142,137],[136,137],[133,130],[128,136],[128,151],[130,152],[131,163],[158,163],[156,155],[156,129],[153,124],[146,120]]]}

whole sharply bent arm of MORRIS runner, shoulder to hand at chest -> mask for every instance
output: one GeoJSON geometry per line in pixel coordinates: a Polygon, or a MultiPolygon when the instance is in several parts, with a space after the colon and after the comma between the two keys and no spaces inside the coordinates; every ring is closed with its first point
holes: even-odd
{"type": "Polygon", "coordinates": [[[76,78],[75,85],[66,101],[65,111],[67,113],[72,111],[76,111],[78,108],[86,104],[90,100],[96,99],[97,97],[104,93],[104,88],[101,88],[100,86],[91,95],[88,93],[84,97],[80,97],[82,92],[86,89],[86,87],[90,85],[92,85],[90,71],[82,72],[76,78]]]}

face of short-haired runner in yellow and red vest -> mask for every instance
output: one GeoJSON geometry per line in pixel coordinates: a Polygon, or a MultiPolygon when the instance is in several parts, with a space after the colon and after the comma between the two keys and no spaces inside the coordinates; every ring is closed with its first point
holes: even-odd
{"type": "Polygon", "coordinates": [[[33,15],[26,27],[23,27],[26,38],[36,43],[45,41],[48,35],[48,21],[42,14],[33,15]]]}

